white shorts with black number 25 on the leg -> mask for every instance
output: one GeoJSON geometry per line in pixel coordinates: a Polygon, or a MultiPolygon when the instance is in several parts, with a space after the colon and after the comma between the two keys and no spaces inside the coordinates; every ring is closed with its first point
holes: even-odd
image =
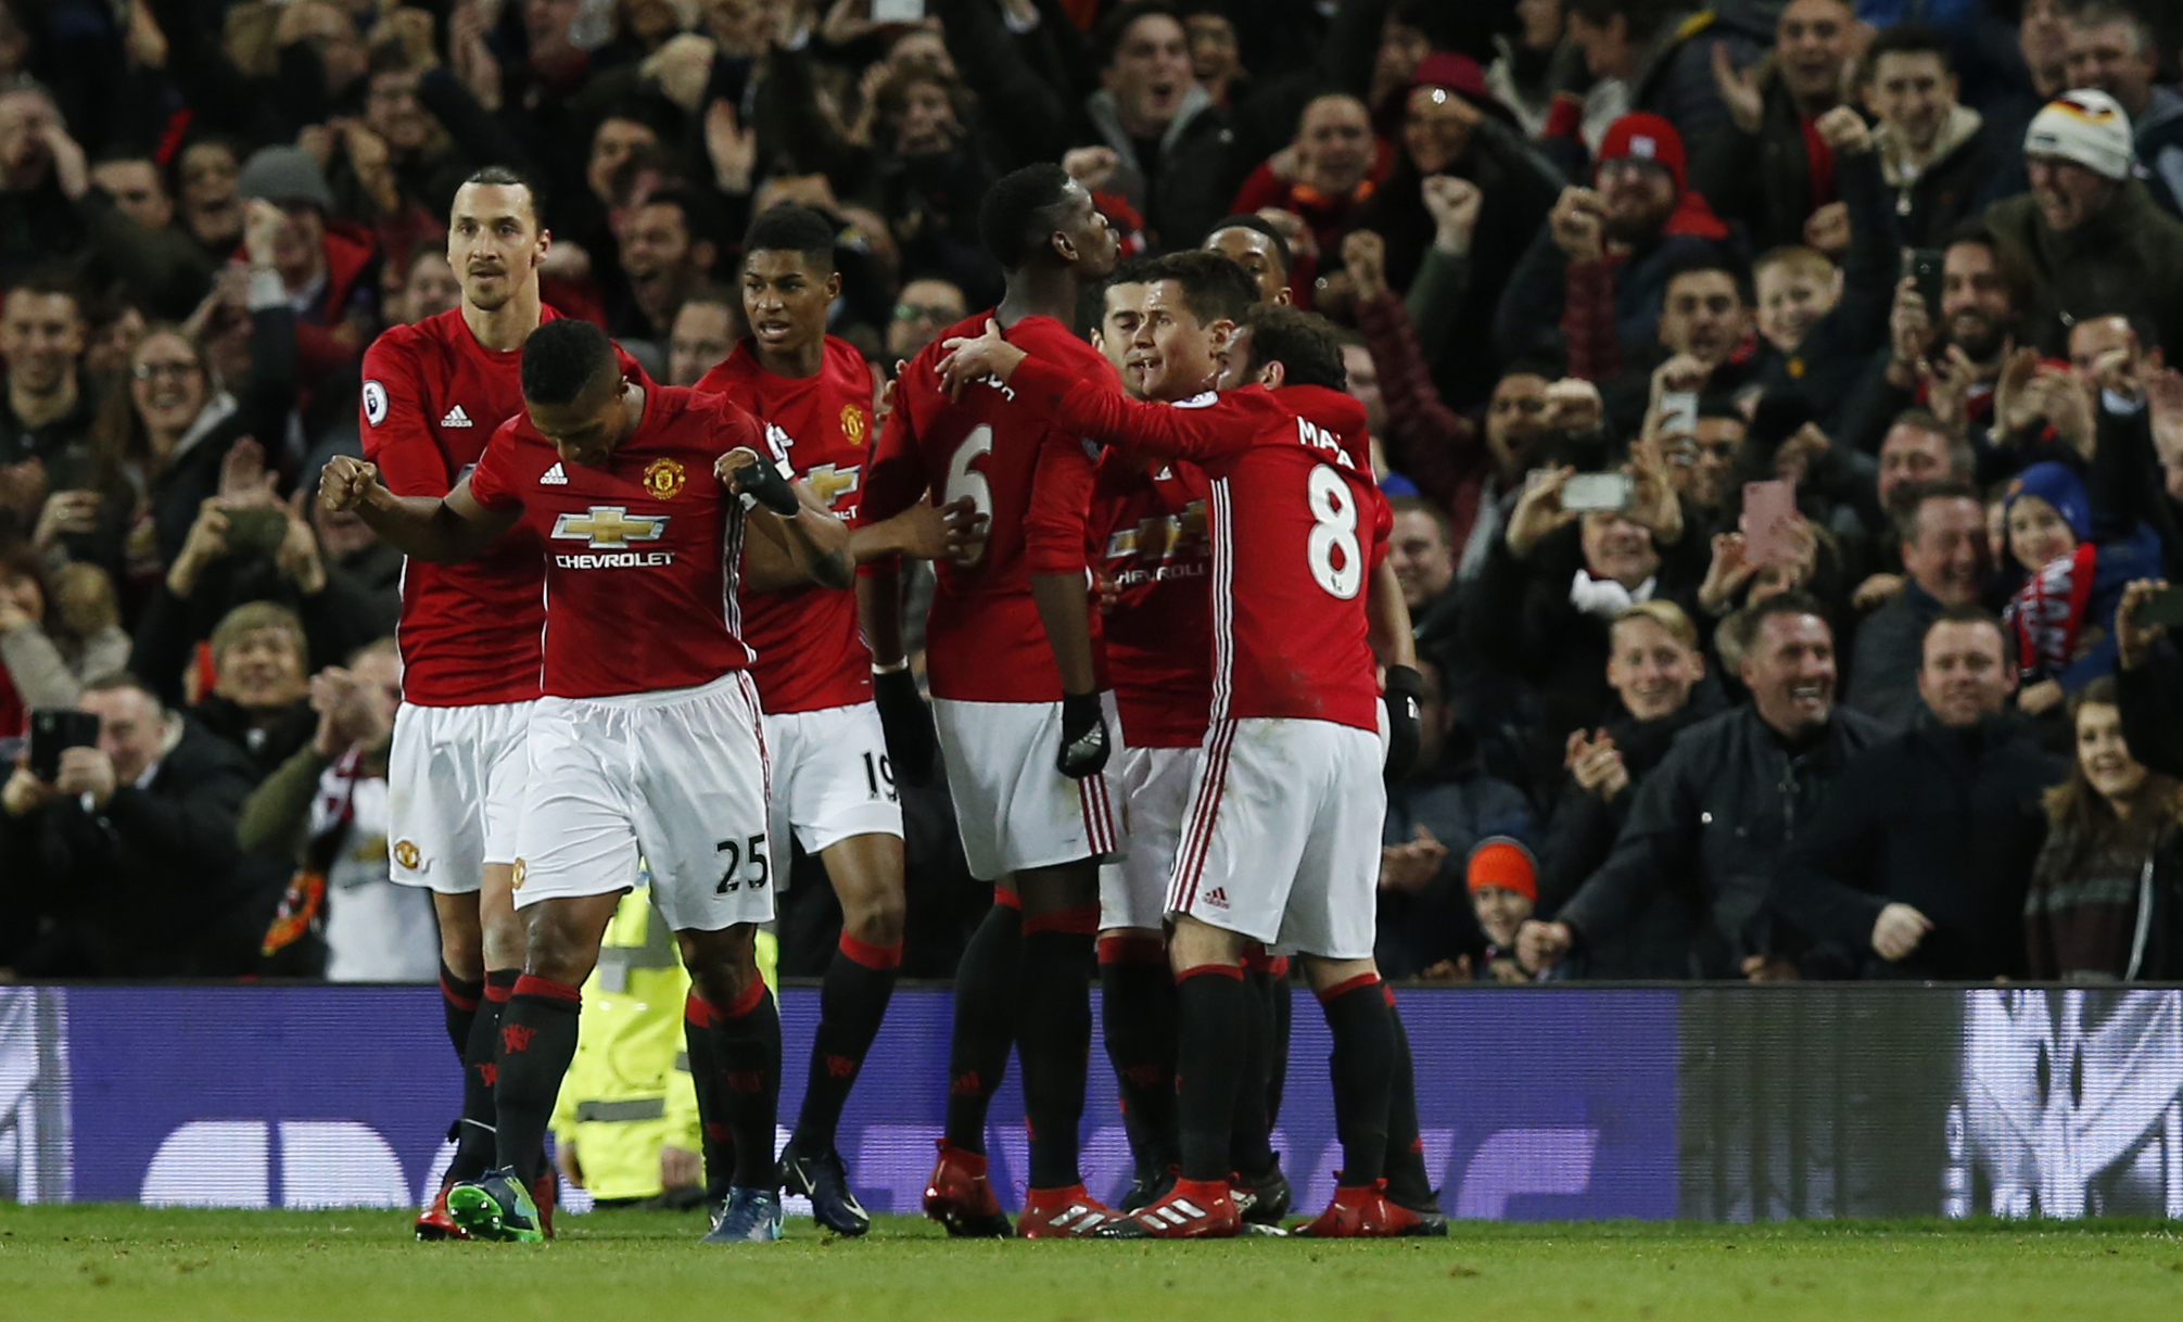
{"type": "Polygon", "coordinates": [[[539,698],[517,833],[515,908],[611,894],[651,864],[677,932],[773,921],[766,737],[731,670],[692,689],[539,698]]]}

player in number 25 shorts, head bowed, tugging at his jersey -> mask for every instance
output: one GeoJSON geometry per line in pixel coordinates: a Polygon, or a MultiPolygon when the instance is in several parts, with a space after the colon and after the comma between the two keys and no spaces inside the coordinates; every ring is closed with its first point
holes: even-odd
{"type": "Polygon", "coordinates": [[[751,947],[773,918],[773,857],[740,593],[810,578],[847,587],[849,530],[784,480],[751,414],[642,373],[624,380],[589,323],[533,332],[522,393],[524,414],[445,497],[393,495],[349,458],[327,465],[323,484],[330,508],[356,508],[417,558],[461,563],[515,524],[546,556],[544,696],[511,877],[524,973],[500,1023],[498,1167],[452,1187],[448,1211],[472,1237],[539,1237],[526,1185],[576,1049],[578,986],[642,853],[694,984],[692,1065],[716,1075],[712,1106],[703,1082],[699,1104],[736,1141],[733,1189],[707,1239],[779,1239],[782,1023],[751,947]]]}

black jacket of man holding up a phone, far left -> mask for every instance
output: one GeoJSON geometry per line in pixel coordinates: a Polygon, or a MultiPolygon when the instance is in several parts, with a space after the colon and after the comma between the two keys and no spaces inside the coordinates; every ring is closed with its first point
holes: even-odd
{"type": "Polygon", "coordinates": [[[251,971],[271,916],[271,897],[236,868],[236,814],[253,783],[258,770],[240,748],[188,724],[151,783],[120,785],[100,812],[55,798],[22,818],[0,814],[0,890],[15,892],[9,910],[37,914],[15,971],[251,971]]]}

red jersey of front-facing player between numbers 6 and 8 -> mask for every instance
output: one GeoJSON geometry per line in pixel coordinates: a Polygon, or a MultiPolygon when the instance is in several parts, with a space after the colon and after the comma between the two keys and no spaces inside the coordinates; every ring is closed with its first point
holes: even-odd
{"type": "Polygon", "coordinates": [[[1116,604],[1107,674],[1131,748],[1196,748],[1212,711],[1212,539],[1205,473],[1109,449],[1092,493],[1092,534],[1116,604]]]}

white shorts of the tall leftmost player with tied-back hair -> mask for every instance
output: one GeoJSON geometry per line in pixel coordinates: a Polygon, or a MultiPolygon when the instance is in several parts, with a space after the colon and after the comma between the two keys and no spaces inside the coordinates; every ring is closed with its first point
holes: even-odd
{"type": "Polygon", "coordinates": [[[535,702],[395,711],[386,750],[386,860],[402,886],[476,894],[485,864],[515,862],[535,702]]]}

